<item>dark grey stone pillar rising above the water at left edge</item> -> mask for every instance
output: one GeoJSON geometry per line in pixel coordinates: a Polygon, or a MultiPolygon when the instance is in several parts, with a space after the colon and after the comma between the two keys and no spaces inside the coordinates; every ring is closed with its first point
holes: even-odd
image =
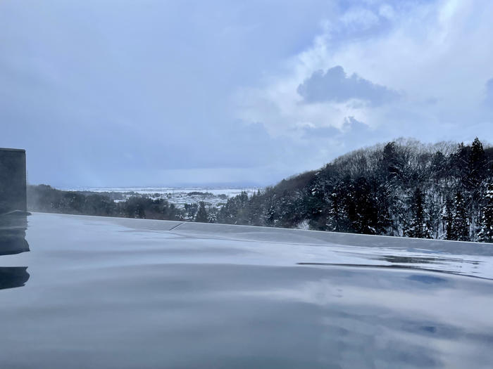
{"type": "Polygon", "coordinates": [[[0,148],[0,214],[27,211],[25,150],[0,148]]]}

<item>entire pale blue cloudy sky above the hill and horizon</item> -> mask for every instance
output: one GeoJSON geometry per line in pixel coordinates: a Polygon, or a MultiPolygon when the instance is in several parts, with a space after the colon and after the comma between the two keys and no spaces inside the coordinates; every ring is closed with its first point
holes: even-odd
{"type": "Polygon", "coordinates": [[[84,188],[493,143],[492,19],[489,0],[0,0],[0,147],[30,183],[84,188]]]}

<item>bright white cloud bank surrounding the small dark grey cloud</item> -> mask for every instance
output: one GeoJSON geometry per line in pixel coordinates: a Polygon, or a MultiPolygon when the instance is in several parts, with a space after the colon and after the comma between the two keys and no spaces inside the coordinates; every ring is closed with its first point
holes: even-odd
{"type": "Polygon", "coordinates": [[[380,129],[382,140],[493,139],[491,129],[472,131],[486,124],[482,101],[485,81],[493,76],[492,2],[397,2],[373,4],[368,12],[359,9],[324,22],[323,32],[286,60],[282,73],[240,90],[237,117],[262,122],[273,135],[301,136],[297,127],[342,129],[344,119],[354,117],[380,129]],[[399,91],[401,98],[381,106],[335,98],[302,103],[297,86],[335,65],[399,91]],[[454,129],[444,132],[444,127],[454,129]]]}

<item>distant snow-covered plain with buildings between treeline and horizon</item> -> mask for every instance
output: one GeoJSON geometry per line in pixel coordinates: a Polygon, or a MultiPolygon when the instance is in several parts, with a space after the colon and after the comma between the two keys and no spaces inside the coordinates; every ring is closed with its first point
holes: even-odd
{"type": "Polygon", "coordinates": [[[217,188],[217,187],[99,187],[99,188],[67,188],[73,191],[90,191],[97,193],[118,192],[123,193],[123,198],[128,198],[134,193],[149,195],[151,198],[164,198],[177,207],[183,207],[192,202],[206,202],[206,205],[220,206],[232,198],[245,191],[249,195],[262,190],[260,187],[245,188],[217,188]]]}

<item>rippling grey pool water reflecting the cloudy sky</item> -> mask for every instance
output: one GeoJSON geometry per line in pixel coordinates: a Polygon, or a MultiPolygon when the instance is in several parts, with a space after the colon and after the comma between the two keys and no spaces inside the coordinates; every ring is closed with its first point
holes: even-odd
{"type": "Polygon", "coordinates": [[[491,275],[484,253],[475,274],[475,255],[55,214],[31,216],[27,239],[12,263],[36,278],[0,291],[0,368],[492,368],[493,282],[468,277],[491,275]]]}

